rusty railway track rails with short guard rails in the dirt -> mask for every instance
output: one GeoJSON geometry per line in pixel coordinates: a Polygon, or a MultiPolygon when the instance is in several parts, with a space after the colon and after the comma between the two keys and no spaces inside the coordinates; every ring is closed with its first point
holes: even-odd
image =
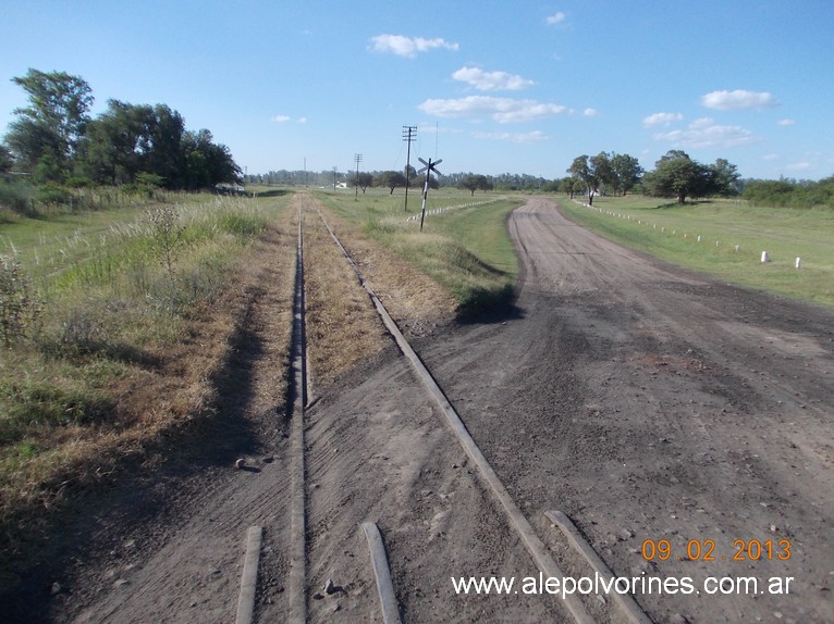
{"type": "MultiPolygon", "coordinates": [[[[307,215],[320,220],[327,228],[332,241],[341,250],[345,262],[347,262],[356,276],[358,284],[365,289],[370,302],[373,304],[387,330],[396,342],[402,355],[407,360],[413,371],[414,377],[422,386],[425,396],[434,403],[437,410],[447,427],[447,430],[454,434],[461,449],[466,453],[469,465],[477,474],[485,489],[489,491],[495,507],[501,510],[505,522],[517,535],[519,542],[528,552],[538,570],[547,578],[563,578],[565,573],[554,560],[554,557],[544,541],[537,535],[528,519],[519,507],[514,502],[507,489],[502,484],[499,476],[490,466],[488,460],[475,444],[466,429],[464,422],[458,416],[455,408],[447,400],[442,388],[438,385],[431,372],[427,369],[419,355],[408,344],[396,323],[388,313],[380,298],[373,291],[366,280],[359,267],[351,258],[347,249],[341,242],[336,234],[327,222],[326,216],[312,198],[307,195],[301,196],[298,203],[298,232],[296,248],[296,271],[295,271],[295,303],[293,314],[293,348],[291,366],[291,395],[292,395],[292,503],[291,503],[291,525],[292,544],[290,547],[290,570],[287,575],[287,599],[289,599],[289,621],[306,622],[308,620],[308,604],[311,598],[321,598],[320,592],[314,594],[311,583],[308,578],[308,557],[309,557],[309,526],[308,526],[308,497],[310,487],[307,482],[306,451],[305,441],[305,409],[311,400],[309,396],[309,371],[306,354],[305,337],[305,274],[304,274],[304,222],[307,215]]],[[[549,513],[548,519],[555,528],[559,526],[565,533],[567,542],[574,550],[571,551],[571,570],[584,569],[593,570],[594,573],[604,577],[612,577],[611,571],[601,562],[591,547],[582,539],[575,527],[561,512],[553,511],[549,513]]],[[[259,527],[253,527],[252,531],[258,531],[259,527]]],[[[372,566],[373,582],[376,584],[376,595],[378,597],[378,614],[384,623],[400,622],[403,609],[398,604],[394,587],[396,585],[395,575],[392,578],[391,569],[388,565],[388,556],[396,558],[396,552],[387,553],[383,536],[379,527],[373,522],[357,523],[357,531],[361,531],[367,538],[369,558],[363,562],[359,559],[356,564],[372,566]]],[[[554,539],[565,539],[555,535],[547,537],[548,541],[554,539]]],[[[249,536],[250,537],[250,536],[249,536]]],[[[259,544],[259,542],[258,542],[259,544]]],[[[569,550],[569,549],[568,549],[569,550]]],[[[564,553],[563,553],[564,556],[564,553]]],[[[358,558],[357,558],[358,559],[358,558]]],[[[247,560],[248,563],[248,560],[247,560]]],[[[249,574],[253,565],[248,564],[249,574]]],[[[257,563],[255,564],[257,570],[257,563]]],[[[255,592],[252,590],[253,579],[244,577],[242,581],[242,600],[255,600],[255,592]],[[244,596],[246,598],[244,599],[244,596]]],[[[328,581],[324,591],[330,592],[332,583],[328,581]]],[[[517,592],[517,591],[516,591],[517,592]]],[[[600,619],[602,621],[629,621],[647,623],[648,616],[637,606],[628,595],[614,594],[614,603],[610,609],[600,611],[599,604],[587,604],[578,595],[563,596],[562,606],[564,612],[554,612],[555,620],[566,619],[577,623],[590,623],[600,619]]],[[[249,624],[253,621],[253,608],[243,607],[238,609],[237,624],[249,624]]]]}

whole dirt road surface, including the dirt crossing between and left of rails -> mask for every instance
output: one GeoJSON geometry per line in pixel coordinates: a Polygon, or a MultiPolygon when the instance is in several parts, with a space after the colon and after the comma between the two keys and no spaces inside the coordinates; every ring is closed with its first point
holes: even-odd
{"type": "MultiPolygon", "coordinates": [[[[508,227],[525,267],[515,309],[415,346],[564,570],[587,574],[549,510],[637,579],[657,622],[834,621],[834,313],[627,251],[543,199],[508,227]],[[744,595],[751,581],[709,594],[708,577],[725,576],[755,578],[756,595],[744,595]],[[641,585],[650,577],[665,579],[662,595],[641,585]]],[[[275,365],[267,355],[250,360],[254,378],[275,365]]],[[[266,413],[252,388],[246,409],[266,413]]],[[[393,344],[317,389],[305,419],[309,621],[381,621],[366,521],[383,535],[404,621],[568,620],[554,596],[453,590],[451,577],[520,584],[538,570],[393,344]]],[[[285,620],[290,428],[262,426],[254,470],[208,471],[164,522],[125,524],[105,564],[81,565],[41,620],[231,622],[256,524],[255,621],[285,620]]],[[[622,621],[610,597],[584,600],[599,621],[622,621]]]]}

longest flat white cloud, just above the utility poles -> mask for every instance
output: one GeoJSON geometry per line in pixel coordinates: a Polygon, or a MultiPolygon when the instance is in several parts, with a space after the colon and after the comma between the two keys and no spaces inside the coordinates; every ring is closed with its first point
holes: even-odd
{"type": "Polygon", "coordinates": [[[567,111],[561,104],[488,96],[469,96],[456,100],[429,99],[417,108],[438,117],[488,117],[501,124],[530,122],[567,111]]]}

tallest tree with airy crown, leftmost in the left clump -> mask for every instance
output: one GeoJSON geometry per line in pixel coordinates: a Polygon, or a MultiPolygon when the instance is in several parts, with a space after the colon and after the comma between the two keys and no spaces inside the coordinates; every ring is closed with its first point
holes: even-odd
{"type": "Polygon", "coordinates": [[[33,171],[44,158],[51,159],[49,171],[66,175],[78,141],[84,136],[93,104],[89,85],[64,72],[29,70],[12,82],[29,96],[29,105],[16,109],[17,118],[9,125],[7,142],[15,160],[33,171]]]}

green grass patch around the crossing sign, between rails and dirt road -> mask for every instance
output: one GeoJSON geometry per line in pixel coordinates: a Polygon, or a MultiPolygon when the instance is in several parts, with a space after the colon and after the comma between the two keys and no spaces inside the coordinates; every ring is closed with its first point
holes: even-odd
{"type": "Polygon", "coordinates": [[[430,190],[427,211],[443,212],[427,214],[420,232],[420,191],[409,191],[407,212],[403,190],[391,196],[387,190],[368,189],[358,199],[352,191],[317,195],[339,216],[449,289],[461,316],[494,311],[511,301],[518,264],[504,223],[522,200],[499,194],[473,197],[457,189],[430,190]]]}

